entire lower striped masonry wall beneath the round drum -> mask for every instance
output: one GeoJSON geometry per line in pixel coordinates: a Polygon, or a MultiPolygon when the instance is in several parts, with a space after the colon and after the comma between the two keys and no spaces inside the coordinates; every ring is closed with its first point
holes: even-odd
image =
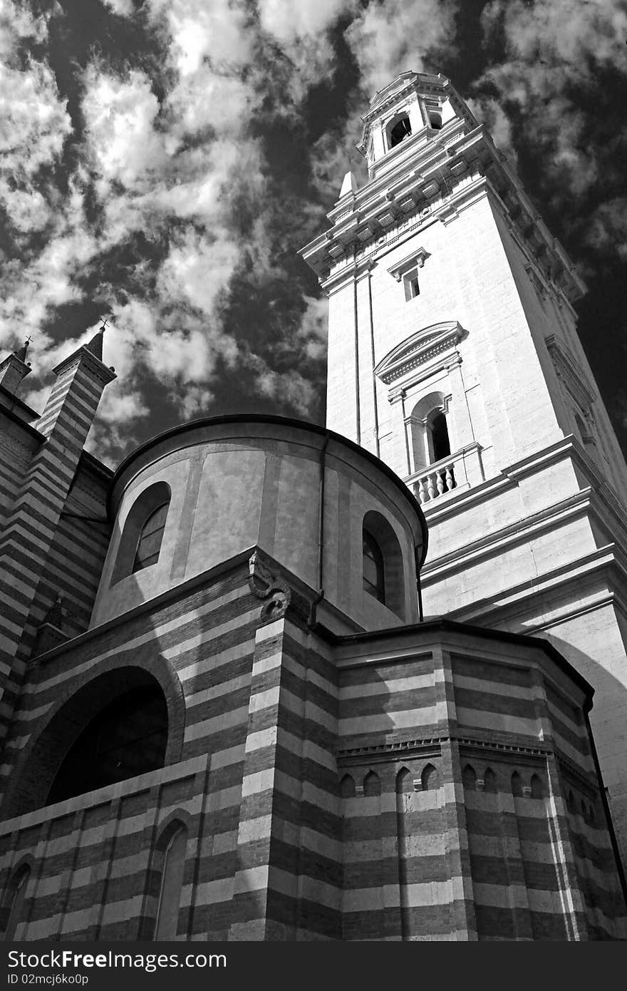
{"type": "Polygon", "coordinates": [[[625,936],[582,692],[541,646],[262,607],[241,555],[30,669],[0,926],[30,870],[16,938],[153,938],[182,828],[181,939],[625,936]],[[45,807],[78,714],[134,671],[167,702],[165,766],[45,807]]]}

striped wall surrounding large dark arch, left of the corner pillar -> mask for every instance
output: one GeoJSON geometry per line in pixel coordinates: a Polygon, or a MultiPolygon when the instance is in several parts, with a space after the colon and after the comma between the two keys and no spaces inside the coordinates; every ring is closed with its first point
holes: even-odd
{"type": "Polygon", "coordinates": [[[16,782],[2,806],[3,886],[25,857],[37,865],[16,937],[152,936],[158,837],[172,819],[188,833],[179,931],[187,938],[228,935],[260,612],[247,577],[242,565],[188,598],[61,647],[31,670],[3,768],[16,782]],[[61,714],[75,736],[76,709],[87,721],[90,705],[101,705],[103,680],[130,668],[151,672],[166,697],[166,766],[38,811],[46,790],[38,792],[38,782],[50,784],[67,743],[54,752],[43,730],[61,714]],[[99,698],[90,699],[90,686],[99,698]],[[7,820],[14,812],[22,815],[7,820]]]}

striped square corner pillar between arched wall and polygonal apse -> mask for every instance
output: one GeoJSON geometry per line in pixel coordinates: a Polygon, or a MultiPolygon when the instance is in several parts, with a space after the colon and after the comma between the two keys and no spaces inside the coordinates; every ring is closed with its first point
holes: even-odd
{"type": "Polygon", "coordinates": [[[312,658],[302,640],[285,619],[257,632],[234,939],[340,934],[336,692],[320,668],[309,677],[312,658]]]}

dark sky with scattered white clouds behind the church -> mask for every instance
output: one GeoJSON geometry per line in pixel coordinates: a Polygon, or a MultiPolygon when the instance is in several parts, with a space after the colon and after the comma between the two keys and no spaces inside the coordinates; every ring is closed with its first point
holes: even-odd
{"type": "Polygon", "coordinates": [[[107,315],[110,464],[194,416],[322,421],[326,305],[296,250],[365,179],[371,93],[442,71],[588,283],[627,449],[626,41],[623,0],[0,0],[0,353],[33,336],[41,409],[107,315]]]}

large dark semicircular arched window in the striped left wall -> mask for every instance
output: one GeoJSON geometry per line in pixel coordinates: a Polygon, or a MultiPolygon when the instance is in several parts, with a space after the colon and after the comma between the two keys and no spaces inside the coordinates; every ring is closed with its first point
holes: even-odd
{"type": "Polygon", "coordinates": [[[122,693],[87,723],[70,746],[47,805],[126,781],[163,766],[167,707],[160,688],[122,693]]]}

